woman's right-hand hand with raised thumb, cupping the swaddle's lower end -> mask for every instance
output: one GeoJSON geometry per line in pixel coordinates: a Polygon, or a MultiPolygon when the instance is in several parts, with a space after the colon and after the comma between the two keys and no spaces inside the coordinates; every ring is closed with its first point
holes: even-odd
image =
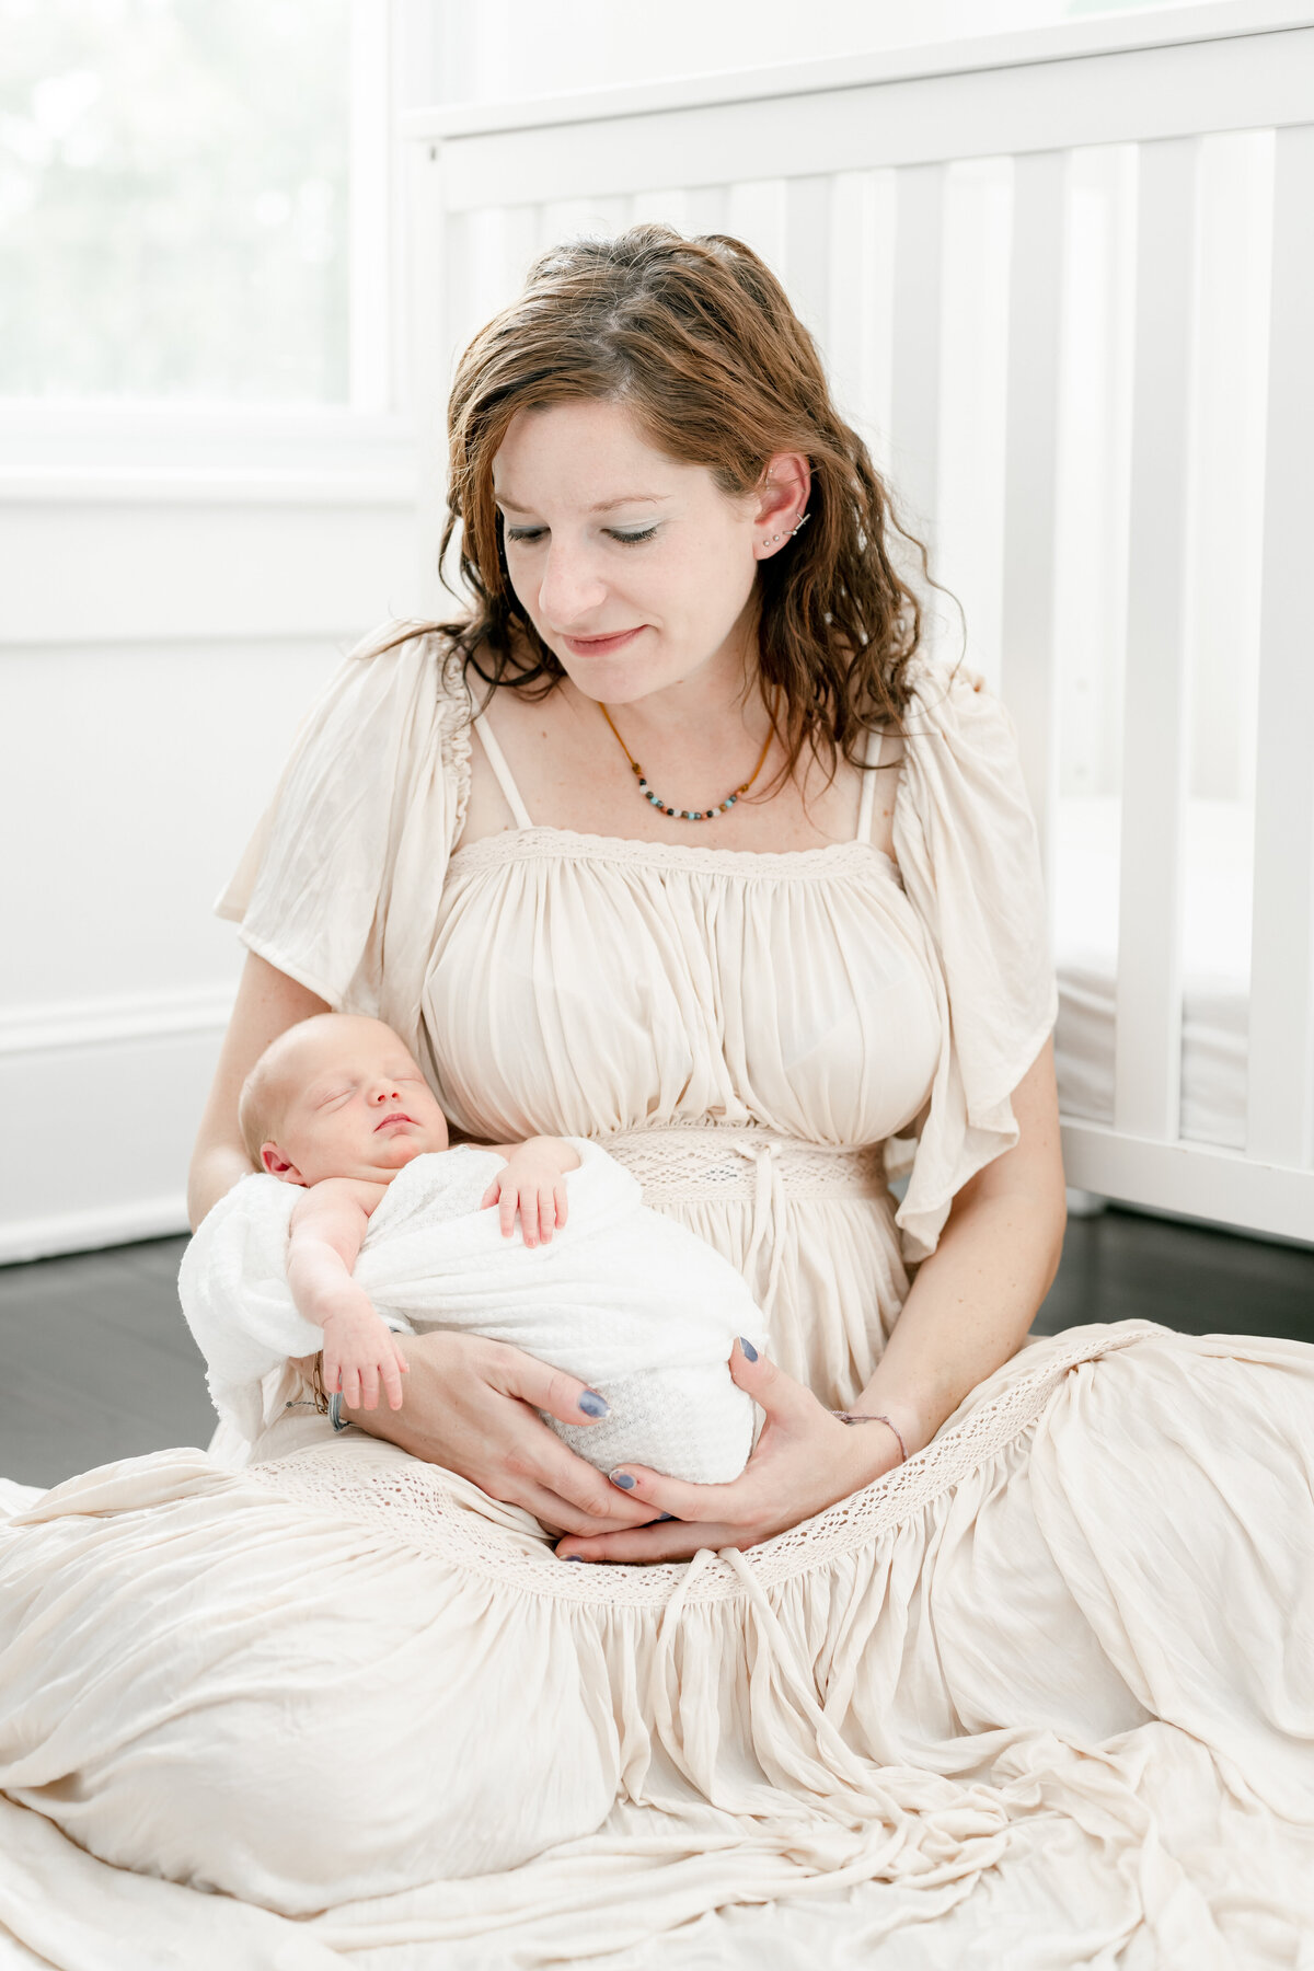
{"type": "Polygon", "coordinates": [[[662,1512],[672,1518],[587,1537],[571,1531],[558,1543],[561,1559],[684,1561],[699,1547],[755,1547],[900,1462],[894,1433],[883,1423],[839,1423],[802,1382],[766,1356],[745,1354],[741,1342],[731,1354],[731,1376],[766,1411],[743,1474],[731,1484],[684,1484],[642,1464],[619,1466],[611,1482],[630,1478],[624,1496],[648,1520],[662,1512]]]}

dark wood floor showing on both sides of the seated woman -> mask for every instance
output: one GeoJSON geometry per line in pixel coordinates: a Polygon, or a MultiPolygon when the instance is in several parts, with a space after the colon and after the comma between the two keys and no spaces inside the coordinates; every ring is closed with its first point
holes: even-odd
{"type": "MultiPolygon", "coordinates": [[[[209,1441],[203,1364],[177,1309],[183,1244],[0,1267],[0,1474],[55,1484],[209,1441]]],[[[1129,1319],[1314,1342],[1314,1250],[1119,1210],[1070,1220],[1036,1330],[1129,1319]]]]}

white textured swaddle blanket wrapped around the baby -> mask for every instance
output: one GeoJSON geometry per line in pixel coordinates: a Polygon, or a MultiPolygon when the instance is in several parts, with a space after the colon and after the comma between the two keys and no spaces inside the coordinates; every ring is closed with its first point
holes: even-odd
{"type": "MultiPolygon", "coordinates": [[[[398,1332],[461,1328],[510,1342],[607,1397],[591,1425],[544,1421],[599,1470],[650,1464],[695,1484],[735,1478],[753,1445],[753,1399],[731,1380],[737,1334],[766,1340],[745,1281],[705,1240],[662,1218],[615,1157],[569,1137],[569,1218],[546,1246],[496,1210],[479,1210],[502,1159],[487,1149],[416,1157],[388,1185],[355,1265],[357,1283],[398,1332]]],[[[301,1196],[246,1177],[183,1254],[179,1295],[207,1360],[215,1409],[248,1443],[264,1386],[290,1356],[317,1354],[323,1330],[288,1287],[288,1222],[301,1196]]]]}

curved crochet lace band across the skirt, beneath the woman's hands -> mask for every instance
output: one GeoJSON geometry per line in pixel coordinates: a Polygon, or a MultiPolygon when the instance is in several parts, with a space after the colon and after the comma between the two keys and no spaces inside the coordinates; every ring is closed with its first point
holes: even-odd
{"type": "Polygon", "coordinates": [[[1028,1431],[1070,1370],[1158,1332],[1150,1323],[1127,1323],[1117,1332],[1087,1334],[1058,1352],[1046,1346],[1046,1360],[1030,1376],[971,1409],[961,1423],[875,1484],[745,1553],[703,1551],[678,1565],[571,1567],[548,1547],[542,1555],[528,1553],[479,1512],[459,1506],[437,1466],[408,1459],[362,1470],[355,1464],[351,1441],[248,1464],[242,1478],[524,1595],[607,1608],[662,1608],[676,1593],[690,1602],[723,1602],[780,1587],[904,1526],[1028,1431]]]}

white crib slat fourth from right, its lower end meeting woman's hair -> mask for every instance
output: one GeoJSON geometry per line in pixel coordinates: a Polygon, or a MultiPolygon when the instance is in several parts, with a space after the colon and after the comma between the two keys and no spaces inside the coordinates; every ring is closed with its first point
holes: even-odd
{"type": "Polygon", "coordinates": [[[902,518],[934,546],[940,479],[940,290],[944,166],[894,175],[890,457],[902,518]]]}

